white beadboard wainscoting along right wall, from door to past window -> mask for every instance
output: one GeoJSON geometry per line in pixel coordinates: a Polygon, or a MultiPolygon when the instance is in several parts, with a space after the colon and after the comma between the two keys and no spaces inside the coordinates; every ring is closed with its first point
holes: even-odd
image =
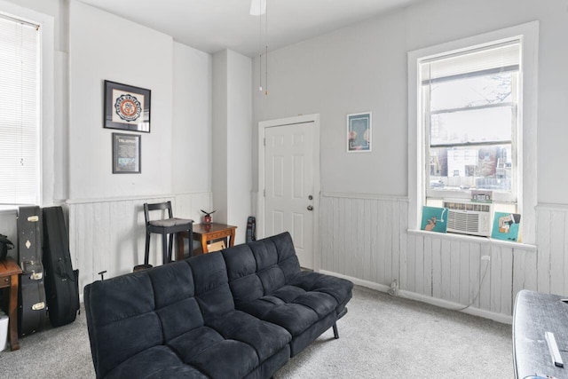
{"type": "Polygon", "coordinates": [[[397,280],[406,296],[454,309],[471,304],[468,312],[509,320],[523,288],[568,293],[568,207],[554,209],[537,212],[539,242],[551,247],[537,253],[522,243],[407,231],[406,198],[322,193],[320,267],[375,288],[397,280]]]}

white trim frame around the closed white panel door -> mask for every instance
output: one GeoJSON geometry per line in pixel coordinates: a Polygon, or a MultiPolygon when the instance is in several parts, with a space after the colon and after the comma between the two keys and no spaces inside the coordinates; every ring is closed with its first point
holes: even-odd
{"type": "Polygon", "coordinates": [[[266,128],[313,122],[313,262],[314,271],[319,271],[319,114],[305,114],[258,122],[258,196],[256,205],[256,235],[264,238],[264,136],[266,128]]]}

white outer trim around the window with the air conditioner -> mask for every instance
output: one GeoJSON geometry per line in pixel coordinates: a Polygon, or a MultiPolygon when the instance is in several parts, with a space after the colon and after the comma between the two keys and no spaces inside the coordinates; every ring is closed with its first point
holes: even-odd
{"type": "Polygon", "coordinates": [[[537,204],[537,75],[538,75],[538,41],[539,21],[533,21],[517,27],[505,28],[483,35],[463,38],[448,43],[408,52],[408,228],[420,229],[422,206],[426,201],[427,178],[429,162],[424,162],[424,134],[419,114],[422,114],[419,91],[419,61],[425,57],[443,54],[447,51],[467,51],[471,46],[493,43],[494,41],[519,38],[522,42],[521,71],[519,81],[523,83],[519,94],[519,146],[518,159],[521,170],[518,171],[517,211],[523,215],[523,241],[528,244],[535,242],[535,207],[537,204]],[[524,178],[526,178],[524,180],[524,178]]]}

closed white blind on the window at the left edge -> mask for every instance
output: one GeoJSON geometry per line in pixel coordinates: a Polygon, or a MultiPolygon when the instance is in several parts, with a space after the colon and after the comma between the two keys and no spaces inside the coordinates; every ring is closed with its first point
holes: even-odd
{"type": "Polygon", "coordinates": [[[39,28],[0,17],[0,203],[38,204],[39,28]]]}

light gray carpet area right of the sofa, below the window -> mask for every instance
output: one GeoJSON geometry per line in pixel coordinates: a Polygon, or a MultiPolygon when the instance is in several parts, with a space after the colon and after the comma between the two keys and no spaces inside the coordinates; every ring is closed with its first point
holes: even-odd
{"type": "Polygon", "coordinates": [[[511,326],[356,288],[349,312],[284,378],[513,378],[511,326]]]}

